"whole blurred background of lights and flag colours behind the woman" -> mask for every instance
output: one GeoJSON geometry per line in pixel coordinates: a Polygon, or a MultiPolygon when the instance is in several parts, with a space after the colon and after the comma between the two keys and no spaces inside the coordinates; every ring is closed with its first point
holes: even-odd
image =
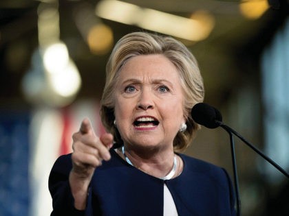
{"type": "MultiPolygon", "coordinates": [[[[0,215],[50,215],[56,158],[99,100],[116,41],[134,31],[182,41],[197,58],[205,102],[289,171],[288,1],[1,0],[0,215]]],[[[242,215],[289,215],[289,181],[235,139],[242,215]]],[[[202,127],[184,152],[225,167],[228,134],[202,127]]]]}

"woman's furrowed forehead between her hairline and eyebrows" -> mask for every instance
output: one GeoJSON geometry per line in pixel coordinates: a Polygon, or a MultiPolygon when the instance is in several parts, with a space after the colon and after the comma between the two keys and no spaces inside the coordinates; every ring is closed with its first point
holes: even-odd
{"type": "MultiPolygon", "coordinates": [[[[178,79],[179,73],[175,65],[161,54],[134,56],[122,67],[120,78],[133,77],[156,77],[178,79]]],[[[173,80],[171,80],[173,81],[173,80]]]]}

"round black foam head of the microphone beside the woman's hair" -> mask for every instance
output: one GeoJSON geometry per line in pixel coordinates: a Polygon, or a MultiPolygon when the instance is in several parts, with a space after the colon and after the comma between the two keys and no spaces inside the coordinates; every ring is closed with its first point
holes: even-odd
{"type": "Polygon", "coordinates": [[[217,121],[222,121],[221,112],[205,103],[195,104],[191,116],[196,123],[211,129],[219,127],[220,123],[217,121]]]}

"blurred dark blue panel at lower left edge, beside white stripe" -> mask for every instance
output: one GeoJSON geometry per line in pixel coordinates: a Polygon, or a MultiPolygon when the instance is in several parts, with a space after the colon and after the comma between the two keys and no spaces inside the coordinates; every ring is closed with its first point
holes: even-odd
{"type": "Polygon", "coordinates": [[[28,215],[30,114],[0,110],[0,215],[28,215]]]}

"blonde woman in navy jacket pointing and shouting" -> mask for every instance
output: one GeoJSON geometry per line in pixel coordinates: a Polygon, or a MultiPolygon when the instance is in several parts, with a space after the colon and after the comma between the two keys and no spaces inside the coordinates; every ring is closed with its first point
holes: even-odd
{"type": "Polygon", "coordinates": [[[235,215],[226,171],[180,154],[198,128],[191,108],[203,99],[182,43],[144,32],[121,38],[101,100],[109,133],[98,138],[83,120],[74,152],[50,173],[52,215],[235,215]]]}

